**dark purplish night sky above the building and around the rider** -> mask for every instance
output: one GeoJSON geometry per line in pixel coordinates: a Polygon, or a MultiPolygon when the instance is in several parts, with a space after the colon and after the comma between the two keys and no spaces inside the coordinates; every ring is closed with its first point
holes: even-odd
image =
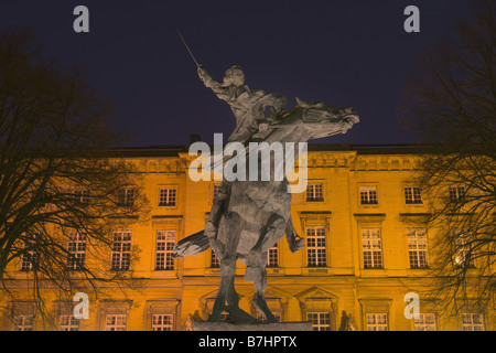
{"type": "Polygon", "coordinates": [[[88,81],[115,101],[127,147],[187,145],[191,133],[225,140],[234,116],[198,79],[181,42],[222,81],[244,67],[250,88],[288,98],[354,107],[360,122],[346,135],[312,142],[411,143],[400,132],[396,105],[423,52],[471,14],[468,0],[322,1],[68,1],[0,4],[0,28],[32,25],[46,53],[82,64],[88,81]],[[89,9],[89,33],[76,33],[76,6],[89,9]],[[407,33],[403,10],[420,9],[420,33],[407,33]]]}

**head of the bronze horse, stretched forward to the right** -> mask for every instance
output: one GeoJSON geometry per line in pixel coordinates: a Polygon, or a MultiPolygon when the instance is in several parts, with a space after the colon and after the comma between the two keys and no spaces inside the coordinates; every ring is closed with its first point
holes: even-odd
{"type": "Polygon", "coordinates": [[[312,131],[312,138],[323,138],[336,133],[346,133],[359,121],[354,108],[336,108],[324,103],[308,103],[296,98],[303,109],[301,120],[312,131]]]}

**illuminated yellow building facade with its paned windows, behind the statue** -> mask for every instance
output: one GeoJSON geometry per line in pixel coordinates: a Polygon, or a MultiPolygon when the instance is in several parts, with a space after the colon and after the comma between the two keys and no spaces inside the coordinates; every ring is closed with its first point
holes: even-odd
{"type": "MultiPolygon", "coordinates": [[[[293,194],[291,205],[305,247],[292,254],[283,238],[268,255],[266,298],[276,317],[311,321],[323,331],[338,330],[343,311],[355,330],[496,329],[490,306],[440,319],[435,300],[422,296],[419,318],[405,315],[405,296],[427,289],[422,277],[429,276],[434,232],[410,222],[429,212],[420,188],[408,182],[418,153],[408,146],[310,146],[308,189],[293,194]]],[[[109,298],[90,299],[89,319],[76,320],[54,300],[53,330],[184,330],[188,314],[206,319],[213,308],[219,284],[215,255],[174,260],[171,254],[177,240],[204,227],[218,182],[190,180],[187,149],[136,149],[126,156],[144,173],[152,208],[147,223],[115,231],[108,270],[132,270],[140,287],[127,296],[109,287],[109,298]]],[[[131,200],[132,191],[121,197],[131,200]]],[[[84,239],[72,242],[84,253],[77,246],[84,239]]],[[[11,272],[25,278],[29,264],[20,261],[11,272]]],[[[252,285],[242,275],[238,263],[240,307],[257,315],[252,285]]],[[[40,329],[32,303],[10,304],[14,323],[0,321],[2,330],[40,329]]]]}

